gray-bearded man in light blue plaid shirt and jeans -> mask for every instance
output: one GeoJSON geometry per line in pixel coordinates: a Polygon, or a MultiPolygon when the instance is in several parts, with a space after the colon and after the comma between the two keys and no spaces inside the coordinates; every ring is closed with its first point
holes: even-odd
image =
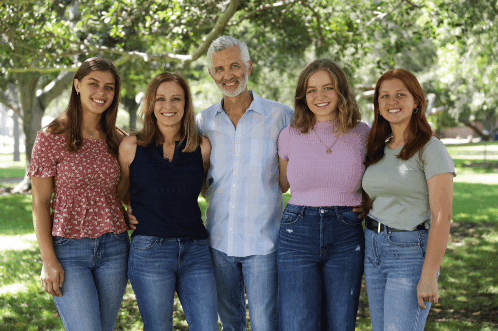
{"type": "Polygon", "coordinates": [[[277,248],[283,211],[277,138],[292,109],[259,97],[247,84],[252,69],[246,43],[221,36],[208,49],[209,74],[224,94],[197,114],[211,141],[203,189],[206,228],[215,268],[223,331],[278,330],[277,248]]]}

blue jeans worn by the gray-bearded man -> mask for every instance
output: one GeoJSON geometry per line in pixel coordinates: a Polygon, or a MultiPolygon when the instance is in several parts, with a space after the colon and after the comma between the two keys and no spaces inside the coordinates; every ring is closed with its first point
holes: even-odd
{"type": "Polygon", "coordinates": [[[251,330],[278,330],[277,252],[237,257],[209,249],[215,266],[221,330],[246,331],[244,284],[251,330]]]}

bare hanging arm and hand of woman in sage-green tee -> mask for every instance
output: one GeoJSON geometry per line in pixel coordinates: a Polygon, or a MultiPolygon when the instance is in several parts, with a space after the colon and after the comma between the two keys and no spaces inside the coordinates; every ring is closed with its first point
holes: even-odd
{"type": "Polygon", "coordinates": [[[438,302],[436,274],[448,245],[450,222],[453,216],[453,173],[434,175],[427,180],[427,186],[432,224],[422,274],[417,285],[418,305],[422,309],[425,309],[424,301],[438,302]]]}

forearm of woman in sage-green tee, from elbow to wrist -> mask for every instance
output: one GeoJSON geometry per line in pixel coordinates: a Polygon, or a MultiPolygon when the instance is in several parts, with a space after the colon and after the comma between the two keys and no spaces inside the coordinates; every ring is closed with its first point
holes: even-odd
{"type": "Polygon", "coordinates": [[[422,266],[422,276],[435,277],[439,270],[446,246],[448,245],[451,217],[451,212],[433,214],[429,238],[427,240],[427,250],[422,266]]]}

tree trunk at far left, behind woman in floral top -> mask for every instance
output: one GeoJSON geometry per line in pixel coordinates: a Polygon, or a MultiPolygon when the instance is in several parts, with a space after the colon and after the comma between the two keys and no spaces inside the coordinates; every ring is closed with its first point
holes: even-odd
{"type": "Polygon", "coordinates": [[[31,178],[26,175],[29,165],[31,165],[31,151],[33,149],[36,132],[41,129],[41,118],[45,109],[36,97],[36,84],[40,79],[38,73],[21,73],[17,75],[17,90],[19,91],[19,101],[22,104],[23,118],[22,129],[24,131],[24,145],[26,146],[26,168],[24,179],[17,184],[12,193],[22,193],[31,189],[31,178]]]}

